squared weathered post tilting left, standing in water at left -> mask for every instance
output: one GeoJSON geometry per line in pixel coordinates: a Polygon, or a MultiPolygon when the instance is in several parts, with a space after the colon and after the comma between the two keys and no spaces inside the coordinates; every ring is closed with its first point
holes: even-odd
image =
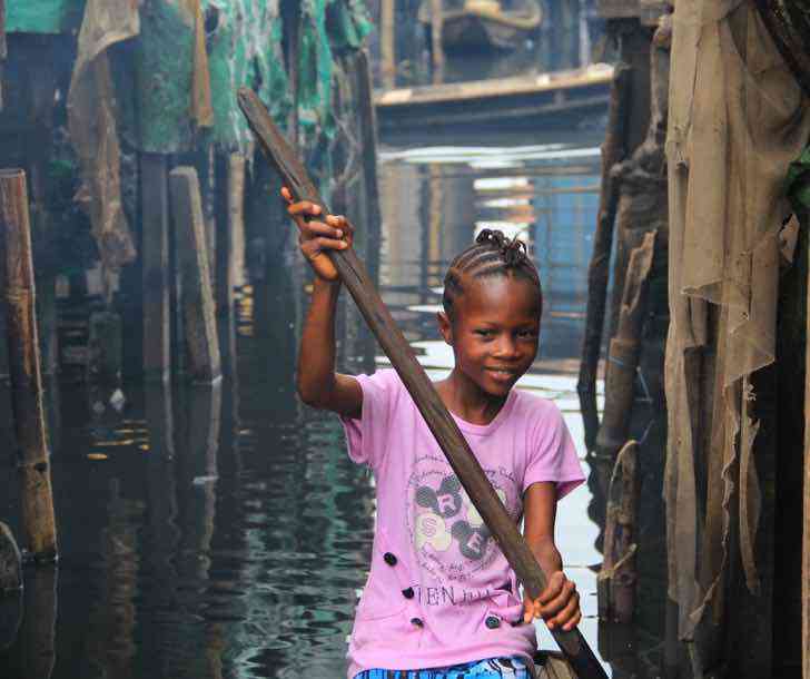
{"type": "Polygon", "coordinates": [[[169,175],[169,185],[178,235],[180,305],[189,372],[195,382],[210,383],[221,375],[221,370],[197,170],[192,167],[175,168],[169,175]]]}

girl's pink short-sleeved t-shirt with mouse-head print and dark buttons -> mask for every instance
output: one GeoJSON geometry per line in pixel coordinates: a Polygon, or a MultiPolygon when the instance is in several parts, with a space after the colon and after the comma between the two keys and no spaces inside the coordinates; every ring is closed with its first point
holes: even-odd
{"type": "MultiPolygon", "coordinates": [[[[421,669],[522,656],[537,641],[524,624],[515,574],[393,370],[357,377],[359,420],[344,417],[348,453],[376,482],[372,570],[357,606],[348,677],[371,668],[421,669]],[[515,623],[515,624],[513,624],[515,623]]],[[[557,407],[512,390],[486,425],[455,417],[515,522],[539,481],[562,498],[584,476],[557,407]]]]}

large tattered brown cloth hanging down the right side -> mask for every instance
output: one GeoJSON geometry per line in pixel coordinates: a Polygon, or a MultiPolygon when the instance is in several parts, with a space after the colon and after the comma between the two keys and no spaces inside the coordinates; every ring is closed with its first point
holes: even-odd
{"type": "Polygon", "coordinates": [[[733,528],[748,587],[753,592],[759,587],[753,549],[761,506],[753,460],[759,423],[751,414],[750,376],[774,360],[779,233],[791,213],[784,177],[809,132],[808,101],[753,3],[675,3],[666,141],[671,324],[664,495],[669,594],[680,604],[679,632],[686,640],[710,604],[722,610],[733,528]],[[715,336],[709,332],[710,305],[720,317],[715,336]],[[708,375],[714,388],[713,402],[705,404],[699,354],[710,344],[717,350],[708,375]],[[703,436],[699,413],[707,410],[713,413],[712,431],[703,436]],[[709,442],[705,450],[701,441],[709,442]],[[705,466],[704,508],[695,460],[705,466]],[[732,516],[739,525],[732,527],[732,516]]]}

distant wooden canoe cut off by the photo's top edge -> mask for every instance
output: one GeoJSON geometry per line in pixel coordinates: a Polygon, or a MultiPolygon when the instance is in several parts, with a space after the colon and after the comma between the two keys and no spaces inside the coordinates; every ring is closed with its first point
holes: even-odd
{"type": "MultiPolygon", "coordinates": [[[[423,4],[419,19],[429,23],[426,7],[423,4]]],[[[514,10],[504,10],[493,0],[468,0],[464,7],[442,13],[442,46],[448,52],[512,50],[537,30],[542,19],[536,0],[514,10]]]]}

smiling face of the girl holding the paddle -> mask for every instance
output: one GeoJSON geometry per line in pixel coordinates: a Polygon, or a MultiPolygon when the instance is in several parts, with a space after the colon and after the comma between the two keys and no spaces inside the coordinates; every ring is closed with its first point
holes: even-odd
{"type": "Polygon", "coordinates": [[[466,281],[453,321],[438,317],[455,371],[486,394],[505,396],[537,354],[540,304],[536,286],[523,278],[466,281]]]}

